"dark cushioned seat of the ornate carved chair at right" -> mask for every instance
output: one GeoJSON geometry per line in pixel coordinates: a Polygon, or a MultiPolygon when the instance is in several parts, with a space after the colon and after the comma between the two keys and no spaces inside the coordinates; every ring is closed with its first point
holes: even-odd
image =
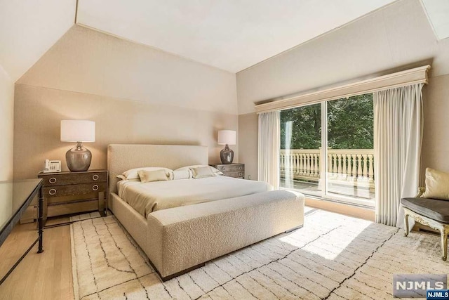
{"type": "Polygon", "coordinates": [[[448,201],[427,198],[403,198],[401,203],[403,207],[415,211],[417,214],[443,223],[449,223],[448,201]]]}

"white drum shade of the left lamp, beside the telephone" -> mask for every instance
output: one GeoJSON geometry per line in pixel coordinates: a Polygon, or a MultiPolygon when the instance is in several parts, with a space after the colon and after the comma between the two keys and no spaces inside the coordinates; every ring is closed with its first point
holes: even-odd
{"type": "Polygon", "coordinates": [[[61,141],[95,142],[95,122],[88,120],[61,120],[61,141]]]}

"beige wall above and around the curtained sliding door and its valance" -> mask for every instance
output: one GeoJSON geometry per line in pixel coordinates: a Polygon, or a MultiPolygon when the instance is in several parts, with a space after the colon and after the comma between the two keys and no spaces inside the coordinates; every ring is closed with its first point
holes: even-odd
{"type": "Polygon", "coordinates": [[[239,133],[253,137],[240,140],[241,162],[257,166],[255,102],[427,63],[432,69],[424,99],[423,166],[449,171],[449,39],[436,40],[419,0],[398,1],[236,74],[239,133]]]}

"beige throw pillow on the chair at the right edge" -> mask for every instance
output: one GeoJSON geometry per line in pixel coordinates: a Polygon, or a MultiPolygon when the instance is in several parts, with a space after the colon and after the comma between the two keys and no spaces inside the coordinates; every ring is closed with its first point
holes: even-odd
{"type": "Polygon", "coordinates": [[[449,173],[426,169],[426,191],[424,198],[449,200],[449,173]]]}

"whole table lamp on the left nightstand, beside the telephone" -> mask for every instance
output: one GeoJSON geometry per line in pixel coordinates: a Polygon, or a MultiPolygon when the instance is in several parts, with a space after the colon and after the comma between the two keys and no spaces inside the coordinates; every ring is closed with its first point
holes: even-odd
{"type": "Polygon", "coordinates": [[[92,153],[83,142],[95,142],[95,122],[88,120],[61,120],[61,141],[75,142],[76,146],[65,153],[67,167],[72,172],[87,171],[92,153]]]}

